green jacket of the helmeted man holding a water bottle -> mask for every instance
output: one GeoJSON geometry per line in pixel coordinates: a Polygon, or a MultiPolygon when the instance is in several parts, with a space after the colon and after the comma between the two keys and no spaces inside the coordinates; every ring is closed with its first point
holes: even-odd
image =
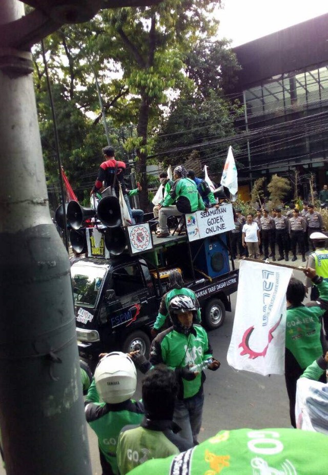
{"type": "MultiPolygon", "coordinates": [[[[151,345],[149,361],[153,366],[164,363],[175,369],[192,366],[212,357],[212,348],[206,331],[199,325],[193,325],[189,335],[179,333],[173,327],[157,335],[151,345]]],[[[201,387],[201,374],[192,381],[181,379],[180,399],[195,396],[201,387]]]]}

